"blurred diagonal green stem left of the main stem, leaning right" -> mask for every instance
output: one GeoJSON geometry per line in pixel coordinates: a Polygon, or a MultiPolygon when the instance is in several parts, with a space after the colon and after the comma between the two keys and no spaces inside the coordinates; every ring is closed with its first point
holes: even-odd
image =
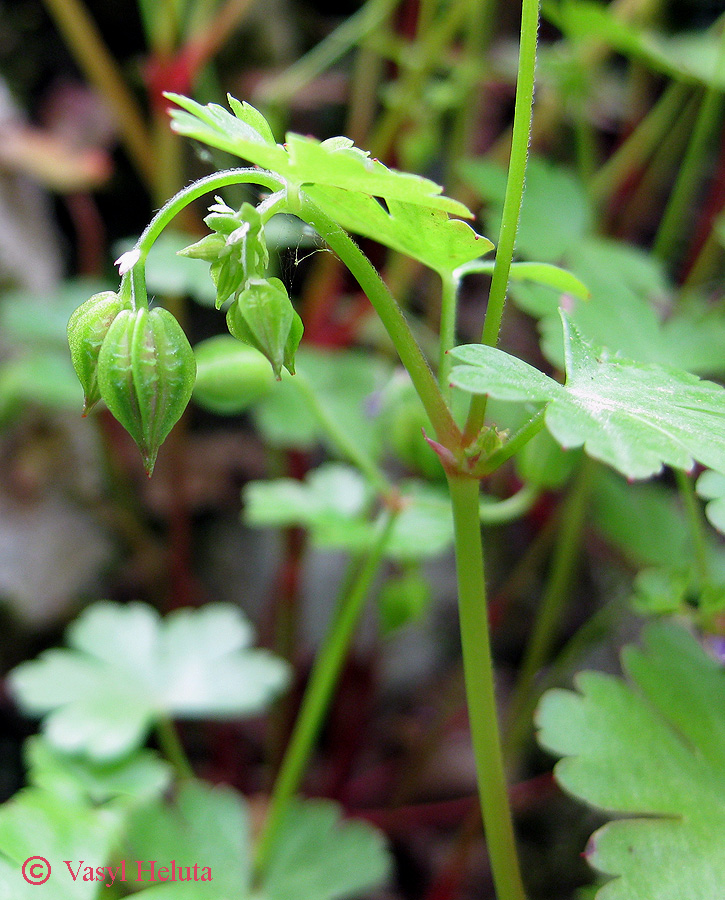
{"type": "Polygon", "coordinates": [[[397,514],[387,512],[378,539],[338,602],[317,655],[282,767],[275,781],[267,818],[257,846],[257,871],[264,871],[289,802],[297,792],[347,656],[370,587],[383,560],[397,514]]]}

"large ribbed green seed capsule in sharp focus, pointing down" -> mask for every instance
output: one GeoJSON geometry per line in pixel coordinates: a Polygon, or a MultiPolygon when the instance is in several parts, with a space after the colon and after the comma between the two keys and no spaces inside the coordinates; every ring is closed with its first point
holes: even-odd
{"type": "Polygon", "coordinates": [[[191,397],[194,352],[165,309],[123,311],[98,357],[98,385],[106,405],[136,441],[150,475],[156,454],[191,397]]]}

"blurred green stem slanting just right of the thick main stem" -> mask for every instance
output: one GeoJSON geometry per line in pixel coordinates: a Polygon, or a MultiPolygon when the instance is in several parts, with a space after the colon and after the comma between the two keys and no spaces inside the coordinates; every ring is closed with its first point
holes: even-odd
{"type": "MultiPolygon", "coordinates": [[[[509,735],[512,732],[521,734],[521,729],[517,728],[518,720],[532,694],[539,669],[549,657],[561,624],[574,568],[581,550],[593,471],[592,461],[584,459],[561,513],[551,571],[509,705],[506,729],[509,735]]],[[[507,750],[510,749],[510,739],[507,739],[507,750]]]]}

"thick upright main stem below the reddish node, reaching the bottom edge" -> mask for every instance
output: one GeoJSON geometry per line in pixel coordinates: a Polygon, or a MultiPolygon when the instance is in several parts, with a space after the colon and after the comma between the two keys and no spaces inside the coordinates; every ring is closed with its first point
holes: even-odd
{"type": "Polygon", "coordinates": [[[456,538],[463,669],[478,793],[498,900],[525,900],[499,739],[486,608],[479,485],[449,476],[456,538]]]}

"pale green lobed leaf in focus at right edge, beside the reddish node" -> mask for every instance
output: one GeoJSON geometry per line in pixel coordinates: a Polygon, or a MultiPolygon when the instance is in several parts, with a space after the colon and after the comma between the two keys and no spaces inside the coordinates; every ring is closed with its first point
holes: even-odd
{"type": "Polygon", "coordinates": [[[725,390],[687,372],[610,357],[583,340],[562,312],[566,384],[501,350],[467,345],[451,383],[502,400],[547,403],[546,427],[564,448],[586,452],[628,478],[696,460],[725,467],[725,390]]]}

